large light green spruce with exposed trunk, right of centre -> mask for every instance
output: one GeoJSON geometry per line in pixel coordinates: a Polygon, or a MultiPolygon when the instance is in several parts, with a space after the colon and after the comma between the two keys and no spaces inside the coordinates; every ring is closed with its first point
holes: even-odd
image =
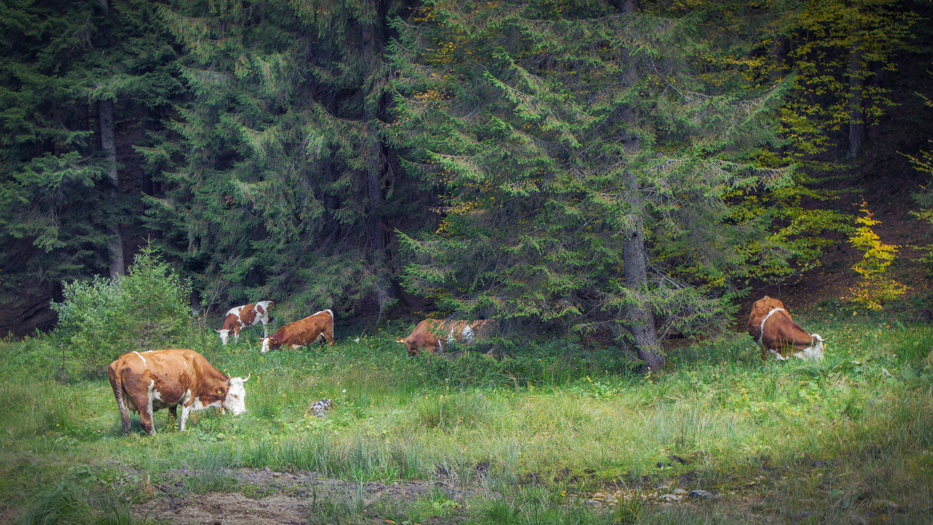
{"type": "Polygon", "coordinates": [[[779,96],[724,60],[745,50],[709,46],[695,14],[635,10],[431,2],[397,20],[397,125],[445,192],[439,229],[402,238],[411,291],[506,325],[612,328],[655,369],[657,329],[730,311],[733,247],[762,232],[729,193],[788,171],[754,162],[779,96]]]}

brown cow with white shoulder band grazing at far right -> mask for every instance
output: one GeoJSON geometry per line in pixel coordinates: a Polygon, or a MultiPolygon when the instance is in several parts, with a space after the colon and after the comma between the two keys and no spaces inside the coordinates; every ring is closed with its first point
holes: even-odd
{"type": "Polygon", "coordinates": [[[785,361],[787,353],[793,350],[793,356],[803,360],[820,361],[823,359],[823,342],[829,339],[819,333],[806,333],[801,326],[790,319],[784,303],[764,296],[752,306],[748,316],[748,334],[755,338],[761,347],[761,359],[773,356],[778,361],[785,361]]]}

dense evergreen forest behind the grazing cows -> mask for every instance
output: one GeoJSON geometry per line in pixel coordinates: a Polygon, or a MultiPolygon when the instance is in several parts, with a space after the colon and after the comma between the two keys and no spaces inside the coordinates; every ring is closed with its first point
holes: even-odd
{"type": "Polygon", "coordinates": [[[878,195],[846,181],[884,164],[897,206],[931,217],[931,14],[0,0],[3,323],[49,328],[63,282],[122,275],[146,243],[195,310],[430,305],[609,333],[652,366],[659,337],[847,240],[866,254],[853,300],[881,307],[904,291],[895,248],[872,230],[878,195]],[[872,134],[892,128],[912,134],[895,150],[872,134]]]}

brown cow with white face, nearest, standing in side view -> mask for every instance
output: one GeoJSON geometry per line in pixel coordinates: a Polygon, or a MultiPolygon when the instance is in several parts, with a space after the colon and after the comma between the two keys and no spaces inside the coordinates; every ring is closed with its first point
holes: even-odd
{"type": "Polygon", "coordinates": [[[246,411],[244,383],[249,376],[230,377],[211,366],[194,350],[170,348],[130,352],[110,363],[107,370],[110,386],[117,398],[123,432],[130,433],[130,411],[139,412],[139,422],[149,435],[155,435],[152,413],[168,408],[185,432],[185,422],[192,410],[216,406],[227,408],[234,416],[246,411]]]}

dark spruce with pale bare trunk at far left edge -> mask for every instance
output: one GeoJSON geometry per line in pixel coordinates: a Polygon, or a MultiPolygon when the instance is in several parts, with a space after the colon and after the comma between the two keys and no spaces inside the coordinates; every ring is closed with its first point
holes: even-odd
{"type": "Polygon", "coordinates": [[[124,230],[139,225],[141,203],[118,156],[118,122],[132,131],[181,84],[150,2],[0,8],[0,287],[54,297],[62,281],[124,273],[124,230]]]}

